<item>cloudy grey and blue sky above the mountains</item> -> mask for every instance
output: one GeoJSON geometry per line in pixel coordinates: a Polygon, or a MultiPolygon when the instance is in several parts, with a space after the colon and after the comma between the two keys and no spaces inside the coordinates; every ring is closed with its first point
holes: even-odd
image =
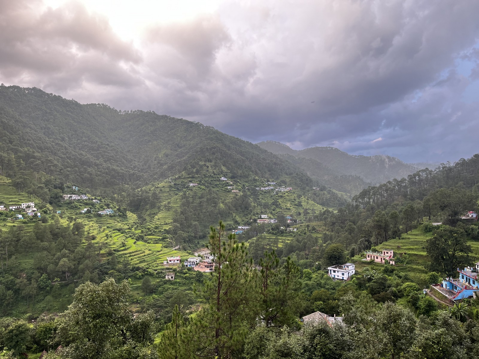
{"type": "Polygon", "coordinates": [[[479,152],[479,1],[0,0],[0,82],[293,148],[479,152]]]}

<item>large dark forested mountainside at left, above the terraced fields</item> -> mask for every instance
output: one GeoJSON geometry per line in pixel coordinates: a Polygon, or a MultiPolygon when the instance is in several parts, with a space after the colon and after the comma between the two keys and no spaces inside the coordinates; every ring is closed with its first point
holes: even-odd
{"type": "Polygon", "coordinates": [[[1,170],[45,172],[85,188],[152,181],[221,163],[233,178],[299,173],[289,162],[213,127],[154,112],[82,105],[36,88],[0,86],[1,170]],[[12,163],[11,152],[21,160],[12,163]]]}

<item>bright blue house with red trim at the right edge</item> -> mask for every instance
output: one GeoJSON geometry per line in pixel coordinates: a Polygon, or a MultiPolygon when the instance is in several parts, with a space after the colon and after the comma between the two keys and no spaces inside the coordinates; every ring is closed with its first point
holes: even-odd
{"type": "Polygon", "coordinates": [[[479,262],[476,263],[476,268],[458,268],[457,271],[459,272],[459,278],[445,278],[441,283],[441,289],[443,289],[444,292],[441,292],[453,301],[472,297],[474,292],[479,291],[478,267],[479,262]]]}

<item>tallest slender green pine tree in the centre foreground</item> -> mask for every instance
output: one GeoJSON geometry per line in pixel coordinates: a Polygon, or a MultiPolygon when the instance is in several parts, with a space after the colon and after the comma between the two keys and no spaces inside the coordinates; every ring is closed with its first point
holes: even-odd
{"type": "Polygon", "coordinates": [[[198,356],[230,358],[256,324],[257,272],[245,244],[237,243],[233,234],[226,237],[221,221],[210,230],[208,249],[215,266],[201,291],[205,308],[194,317],[188,336],[198,356]]]}

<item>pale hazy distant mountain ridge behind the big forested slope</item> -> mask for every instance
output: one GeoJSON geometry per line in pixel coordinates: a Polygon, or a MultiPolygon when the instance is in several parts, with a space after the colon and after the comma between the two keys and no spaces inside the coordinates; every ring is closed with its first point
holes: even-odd
{"type": "Polygon", "coordinates": [[[257,145],[275,154],[314,159],[336,175],[360,176],[365,182],[387,182],[393,178],[407,177],[417,170],[415,166],[404,163],[396,157],[354,156],[335,147],[309,147],[294,150],[275,141],[260,142],[257,145]]]}

